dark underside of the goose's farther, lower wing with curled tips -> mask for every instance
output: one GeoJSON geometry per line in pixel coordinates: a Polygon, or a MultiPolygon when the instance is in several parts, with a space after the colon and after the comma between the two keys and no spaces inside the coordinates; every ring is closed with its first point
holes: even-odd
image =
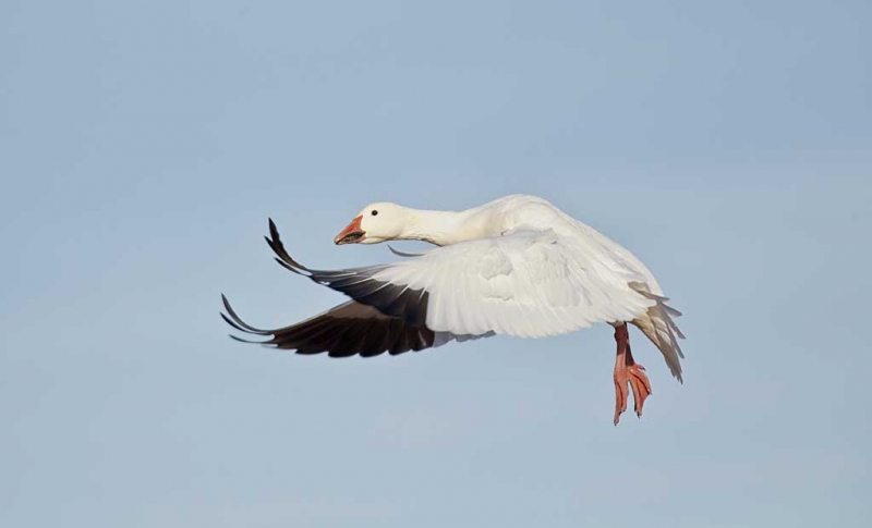
{"type": "Polygon", "coordinates": [[[231,337],[245,343],[295,349],[298,354],[326,352],[331,357],[358,354],[372,357],[387,352],[396,355],[438,346],[452,337],[446,339],[425,327],[410,327],[402,319],[385,316],[372,306],[353,300],[290,327],[262,330],[243,322],[230,307],[227,297],[221,297],[228,312],[221,314],[221,317],[228,324],[241,332],[268,339],[258,342],[234,335],[231,337]]]}

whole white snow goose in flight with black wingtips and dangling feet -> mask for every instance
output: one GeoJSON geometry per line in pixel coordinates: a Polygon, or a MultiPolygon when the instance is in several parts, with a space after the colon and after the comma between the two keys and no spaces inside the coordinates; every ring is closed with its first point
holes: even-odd
{"type": "MultiPolygon", "coordinates": [[[[279,265],[351,300],[290,327],[243,322],[223,295],[238,331],[255,343],[332,357],[395,355],[495,334],[543,337],[604,322],[615,328],[615,425],[632,391],[642,416],[651,383],[630,351],[627,323],[651,340],[681,379],[681,314],[629,250],[543,198],[513,195],[465,211],[432,211],[377,202],[364,207],[334,240],[338,245],[425,241],[423,254],[390,248],[403,260],[314,270],[286,250],[272,220],[267,244],[279,265]],[[629,390],[628,390],[629,386],[629,390]]],[[[245,341],[231,335],[238,341],[245,341]]]]}

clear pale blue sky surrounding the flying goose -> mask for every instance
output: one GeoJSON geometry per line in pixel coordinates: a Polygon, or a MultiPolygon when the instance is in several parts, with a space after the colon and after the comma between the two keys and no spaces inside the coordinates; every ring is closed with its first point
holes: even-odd
{"type": "MultiPolygon", "coordinates": [[[[872,4],[0,3],[3,527],[870,526],[872,4]],[[375,359],[364,205],[537,194],[686,316],[611,425],[595,327],[375,359]]],[[[405,244],[411,249],[420,246],[405,244]]]]}

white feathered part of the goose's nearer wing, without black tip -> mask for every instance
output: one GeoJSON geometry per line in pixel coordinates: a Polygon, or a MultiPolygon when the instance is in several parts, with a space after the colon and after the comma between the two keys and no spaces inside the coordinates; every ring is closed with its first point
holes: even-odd
{"type": "Polygon", "coordinates": [[[456,334],[541,337],[632,320],[654,305],[626,280],[592,271],[573,242],[550,229],[513,229],[431,250],[373,279],[429,292],[427,328],[456,334]]]}

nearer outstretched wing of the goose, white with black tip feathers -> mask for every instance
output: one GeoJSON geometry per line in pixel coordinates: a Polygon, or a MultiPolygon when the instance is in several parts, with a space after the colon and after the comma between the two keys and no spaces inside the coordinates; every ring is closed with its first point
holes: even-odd
{"type": "Polygon", "coordinates": [[[399,262],[336,271],[300,265],[271,220],[269,230],[267,243],[284,268],[436,334],[553,335],[631,321],[655,304],[620,277],[597,271],[582,249],[552,230],[516,230],[399,262]]]}

